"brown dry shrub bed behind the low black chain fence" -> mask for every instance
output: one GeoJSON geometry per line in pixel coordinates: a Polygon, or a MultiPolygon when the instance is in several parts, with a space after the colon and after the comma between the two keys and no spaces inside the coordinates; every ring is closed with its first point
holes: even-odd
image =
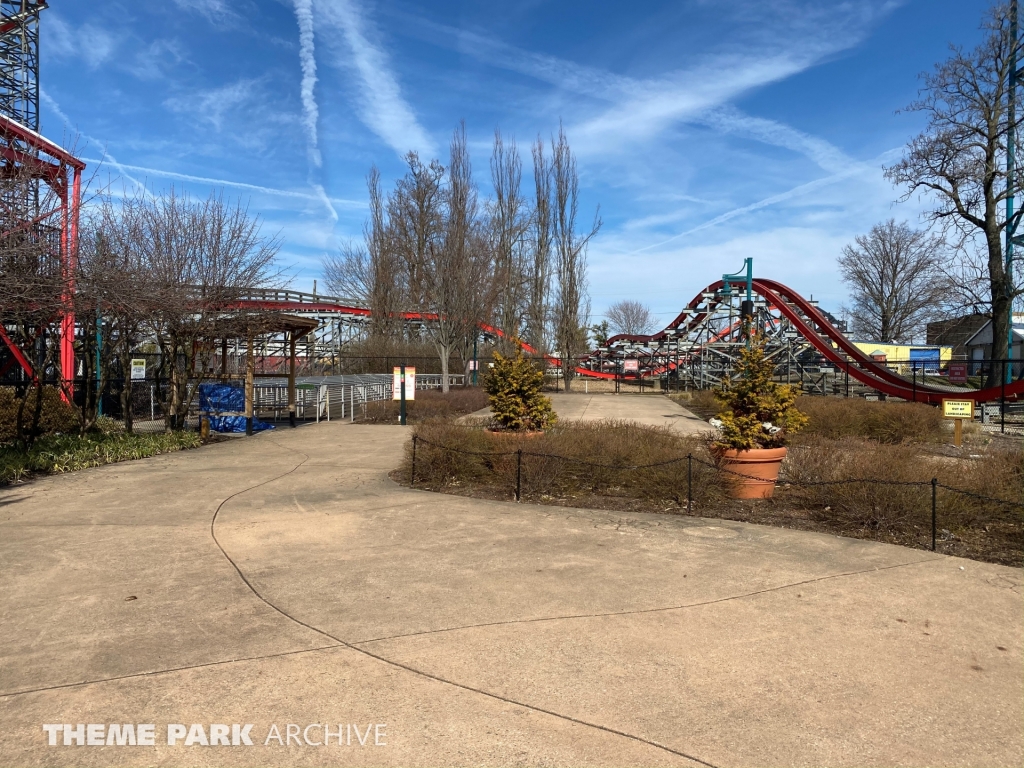
{"type": "MultiPolygon", "coordinates": [[[[522,450],[523,501],[688,514],[690,454],[693,514],[918,548],[931,547],[933,477],[969,493],[1024,501],[1024,454],[994,443],[978,449],[980,453],[950,457],[908,443],[814,434],[791,449],[774,499],[737,502],[727,498],[729,475],[715,467],[707,441],[667,429],[631,422],[562,422],[543,434],[517,436],[427,422],[415,434],[418,487],[511,500],[515,454],[522,450]],[[633,469],[650,464],[662,466],[633,469]],[[872,482],[848,482],[852,479],[872,482]],[[842,482],[819,484],[837,480],[842,482]]],[[[406,484],[411,454],[410,443],[403,466],[392,475],[406,484]]],[[[940,552],[1024,564],[1024,510],[942,487],[937,497],[940,552]]]]}

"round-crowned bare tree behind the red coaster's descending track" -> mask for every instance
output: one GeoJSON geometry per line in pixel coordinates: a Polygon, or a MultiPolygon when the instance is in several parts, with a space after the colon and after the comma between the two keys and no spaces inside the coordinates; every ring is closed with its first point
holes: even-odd
{"type": "Polygon", "coordinates": [[[906,222],[889,219],[843,248],[843,282],[850,289],[853,332],[884,343],[912,341],[935,319],[948,296],[939,268],[944,243],[906,222]]]}

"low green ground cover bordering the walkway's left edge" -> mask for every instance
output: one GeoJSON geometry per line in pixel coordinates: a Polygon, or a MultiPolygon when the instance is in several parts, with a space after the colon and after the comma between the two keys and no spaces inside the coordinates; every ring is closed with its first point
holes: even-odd
{"type": "Polygon", "coordinates": [[[14,445],[0,446],[0,484],[15,482],[35,472],[74,472],[199,445],[200,437],[195,432],[46,435],[28,451],[14,445]]]}

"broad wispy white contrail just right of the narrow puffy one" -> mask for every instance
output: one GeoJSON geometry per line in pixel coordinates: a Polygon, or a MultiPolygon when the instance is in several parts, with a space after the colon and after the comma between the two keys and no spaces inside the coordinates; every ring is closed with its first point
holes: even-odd
{"type": "Polygon", "coordinates": [[[358,112],[366,126],[399,157],[410,150],[434,157],[434,142],[402,96],[389,57],[373,41],[375,31],[360,10],[350,0],[317,0],[316,8],[321,18],[341,32],[346,50],[336,51],[337,59],[357,75],[358,112]]]}

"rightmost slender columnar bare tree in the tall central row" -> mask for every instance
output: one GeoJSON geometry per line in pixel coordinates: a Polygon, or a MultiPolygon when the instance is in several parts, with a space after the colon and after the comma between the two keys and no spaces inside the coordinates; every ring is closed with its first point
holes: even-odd
{"type": "Polygon", "coordinates": [[[600,209],[587,232],[577,230],[580,209],[580,175],[575,157],[561,126],[551,141],[552,241],[557,292],[553,307],[554,341],[561,359],[565,390],[575,377],[575,358],[587,351],[587,244],[601,228],[600,209]]]}

